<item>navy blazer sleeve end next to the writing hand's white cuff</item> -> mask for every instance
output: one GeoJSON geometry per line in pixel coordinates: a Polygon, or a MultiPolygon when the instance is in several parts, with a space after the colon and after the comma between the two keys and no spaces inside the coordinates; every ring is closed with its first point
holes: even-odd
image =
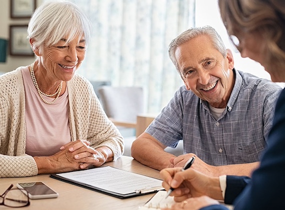
{"type": "Polygon", "coordinates": [[[250,182],[248,176],[226,176],[226,188],[224,203],[232,204],[233,200],[241,193],[244,187],[250,182]]]}

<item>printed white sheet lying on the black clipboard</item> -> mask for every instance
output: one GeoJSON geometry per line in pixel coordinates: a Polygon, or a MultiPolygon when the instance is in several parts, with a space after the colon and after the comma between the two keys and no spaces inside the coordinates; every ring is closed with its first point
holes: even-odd
{"type": "Polygon", "coordinates": [[[163,189],[162,181],[159,179],[110,166],[56,175],[120,194],[133,193],[145,188],[163,189]]]}

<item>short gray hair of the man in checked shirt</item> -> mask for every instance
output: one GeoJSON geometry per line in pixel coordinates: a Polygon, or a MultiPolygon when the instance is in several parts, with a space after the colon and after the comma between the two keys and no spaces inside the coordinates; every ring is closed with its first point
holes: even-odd
{"type": "Polygon", "coordinates": [[[168,48],[168,55],[172,63],[176,67],[176,70],[180,74],[178,63],[175,58],[175,51],[180,45],[190,41],[191,39],[198,37],[199,35],[208,35],[212,41],[213,47],[221,53],[221,55],[226,57],[226,48],[218,35],[218,33],[210,26],[196,27],[184,31],[182,34],[178,35],[173,39],[168,48]]]}

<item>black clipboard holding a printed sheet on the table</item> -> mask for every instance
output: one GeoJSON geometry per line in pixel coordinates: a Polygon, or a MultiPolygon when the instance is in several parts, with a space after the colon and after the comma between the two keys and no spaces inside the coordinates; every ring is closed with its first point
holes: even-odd
{"type": "Polygon", "coordinates": [[[50,177],[121,199],[164,189],[160,179],[111,166],[50,174],[50,177]]]}

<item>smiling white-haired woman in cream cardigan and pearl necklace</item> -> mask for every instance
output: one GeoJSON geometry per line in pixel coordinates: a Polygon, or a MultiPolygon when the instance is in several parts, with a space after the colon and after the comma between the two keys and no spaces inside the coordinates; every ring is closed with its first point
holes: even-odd
{"type": "Polygon", "coordinates": [[[36,55],[0,77],[0,177],[58,173],[114,161],[123,140],[91,84],[75,71],[90,22],[74,5],[41,5],[28,25],[36,55]]]}

